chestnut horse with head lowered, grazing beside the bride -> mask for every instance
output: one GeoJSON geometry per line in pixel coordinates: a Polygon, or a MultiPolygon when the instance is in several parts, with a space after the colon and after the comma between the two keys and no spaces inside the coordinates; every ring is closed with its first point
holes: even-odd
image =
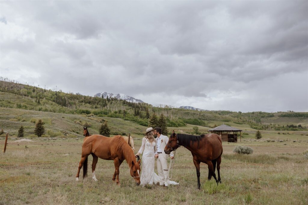
{"type": "Polygon", "coordinates": [[[115,165],[115,173],[112,180],[119,184],[120,165],[126,160],[130,169],[130,175],[135,179],[137,185],[140,184],[140,160],[137,162],[135,154],[130,146],[120,135],[106,137],[102,135],[88,136],[82,144],[81,160],[78,165],[76,181],[79,181],[79,172],[83,167],[83,178],[87,176],[88,156],[93,156],[92,162],[92,179],[97,181],[95,176],[95,167],[98,158],[103,160],[113,160],[115,165]]]}

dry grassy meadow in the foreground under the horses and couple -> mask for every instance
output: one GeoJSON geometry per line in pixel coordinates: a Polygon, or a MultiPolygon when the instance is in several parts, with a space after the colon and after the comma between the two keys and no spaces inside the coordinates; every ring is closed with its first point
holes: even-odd
{"type": "MultiPolygon", "coordinates": [[[[20,138],[10,137],[6,153],[1,138],[0,204],[307,204],[307,136],[263,134],[261,140],[245,136],[241,143],[223,142],[222,183],[208,181],[208,168],[201,164],[201,190],[191,153],[183,147],[176,151],[172,171],[172,180],[180,185],[137,187],[126,163],[116,185],[111,180],[113,161],[101,159],[96,166],[99,181],[92,181],[91,156],[88,178],[82,179],[81,170],[76,182],[82,138],[14,142],[20,138]],[[236,145],[250,146],[253,154],[233,153],[236,145]]],[[[135,139],[136,152],[141,137],[135,139]]]]}

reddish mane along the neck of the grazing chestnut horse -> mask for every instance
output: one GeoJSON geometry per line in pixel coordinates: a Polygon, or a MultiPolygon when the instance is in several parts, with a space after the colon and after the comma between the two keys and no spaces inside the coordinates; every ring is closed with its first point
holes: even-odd
{"type": "Polygon", "coordinates": [[[115,150],[118,152],[118,155],[126,160],[129,167],[132,166],[132,162],[136,162],[136,158],[132,148],[128,145],[127,142],[123,139],[122,136],[118,135],[115,137],[115,150]],[[119,137],[118,137],[119,136],[119,137]]]}

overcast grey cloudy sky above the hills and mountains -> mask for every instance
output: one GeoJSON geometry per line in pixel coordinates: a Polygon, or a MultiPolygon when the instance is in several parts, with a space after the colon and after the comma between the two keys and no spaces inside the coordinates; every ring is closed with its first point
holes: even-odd
{"type": "Polygon", "coordinates": [[[149,104],[308,112],[307,1],[1,1],[0,76],[149,104]]]}

